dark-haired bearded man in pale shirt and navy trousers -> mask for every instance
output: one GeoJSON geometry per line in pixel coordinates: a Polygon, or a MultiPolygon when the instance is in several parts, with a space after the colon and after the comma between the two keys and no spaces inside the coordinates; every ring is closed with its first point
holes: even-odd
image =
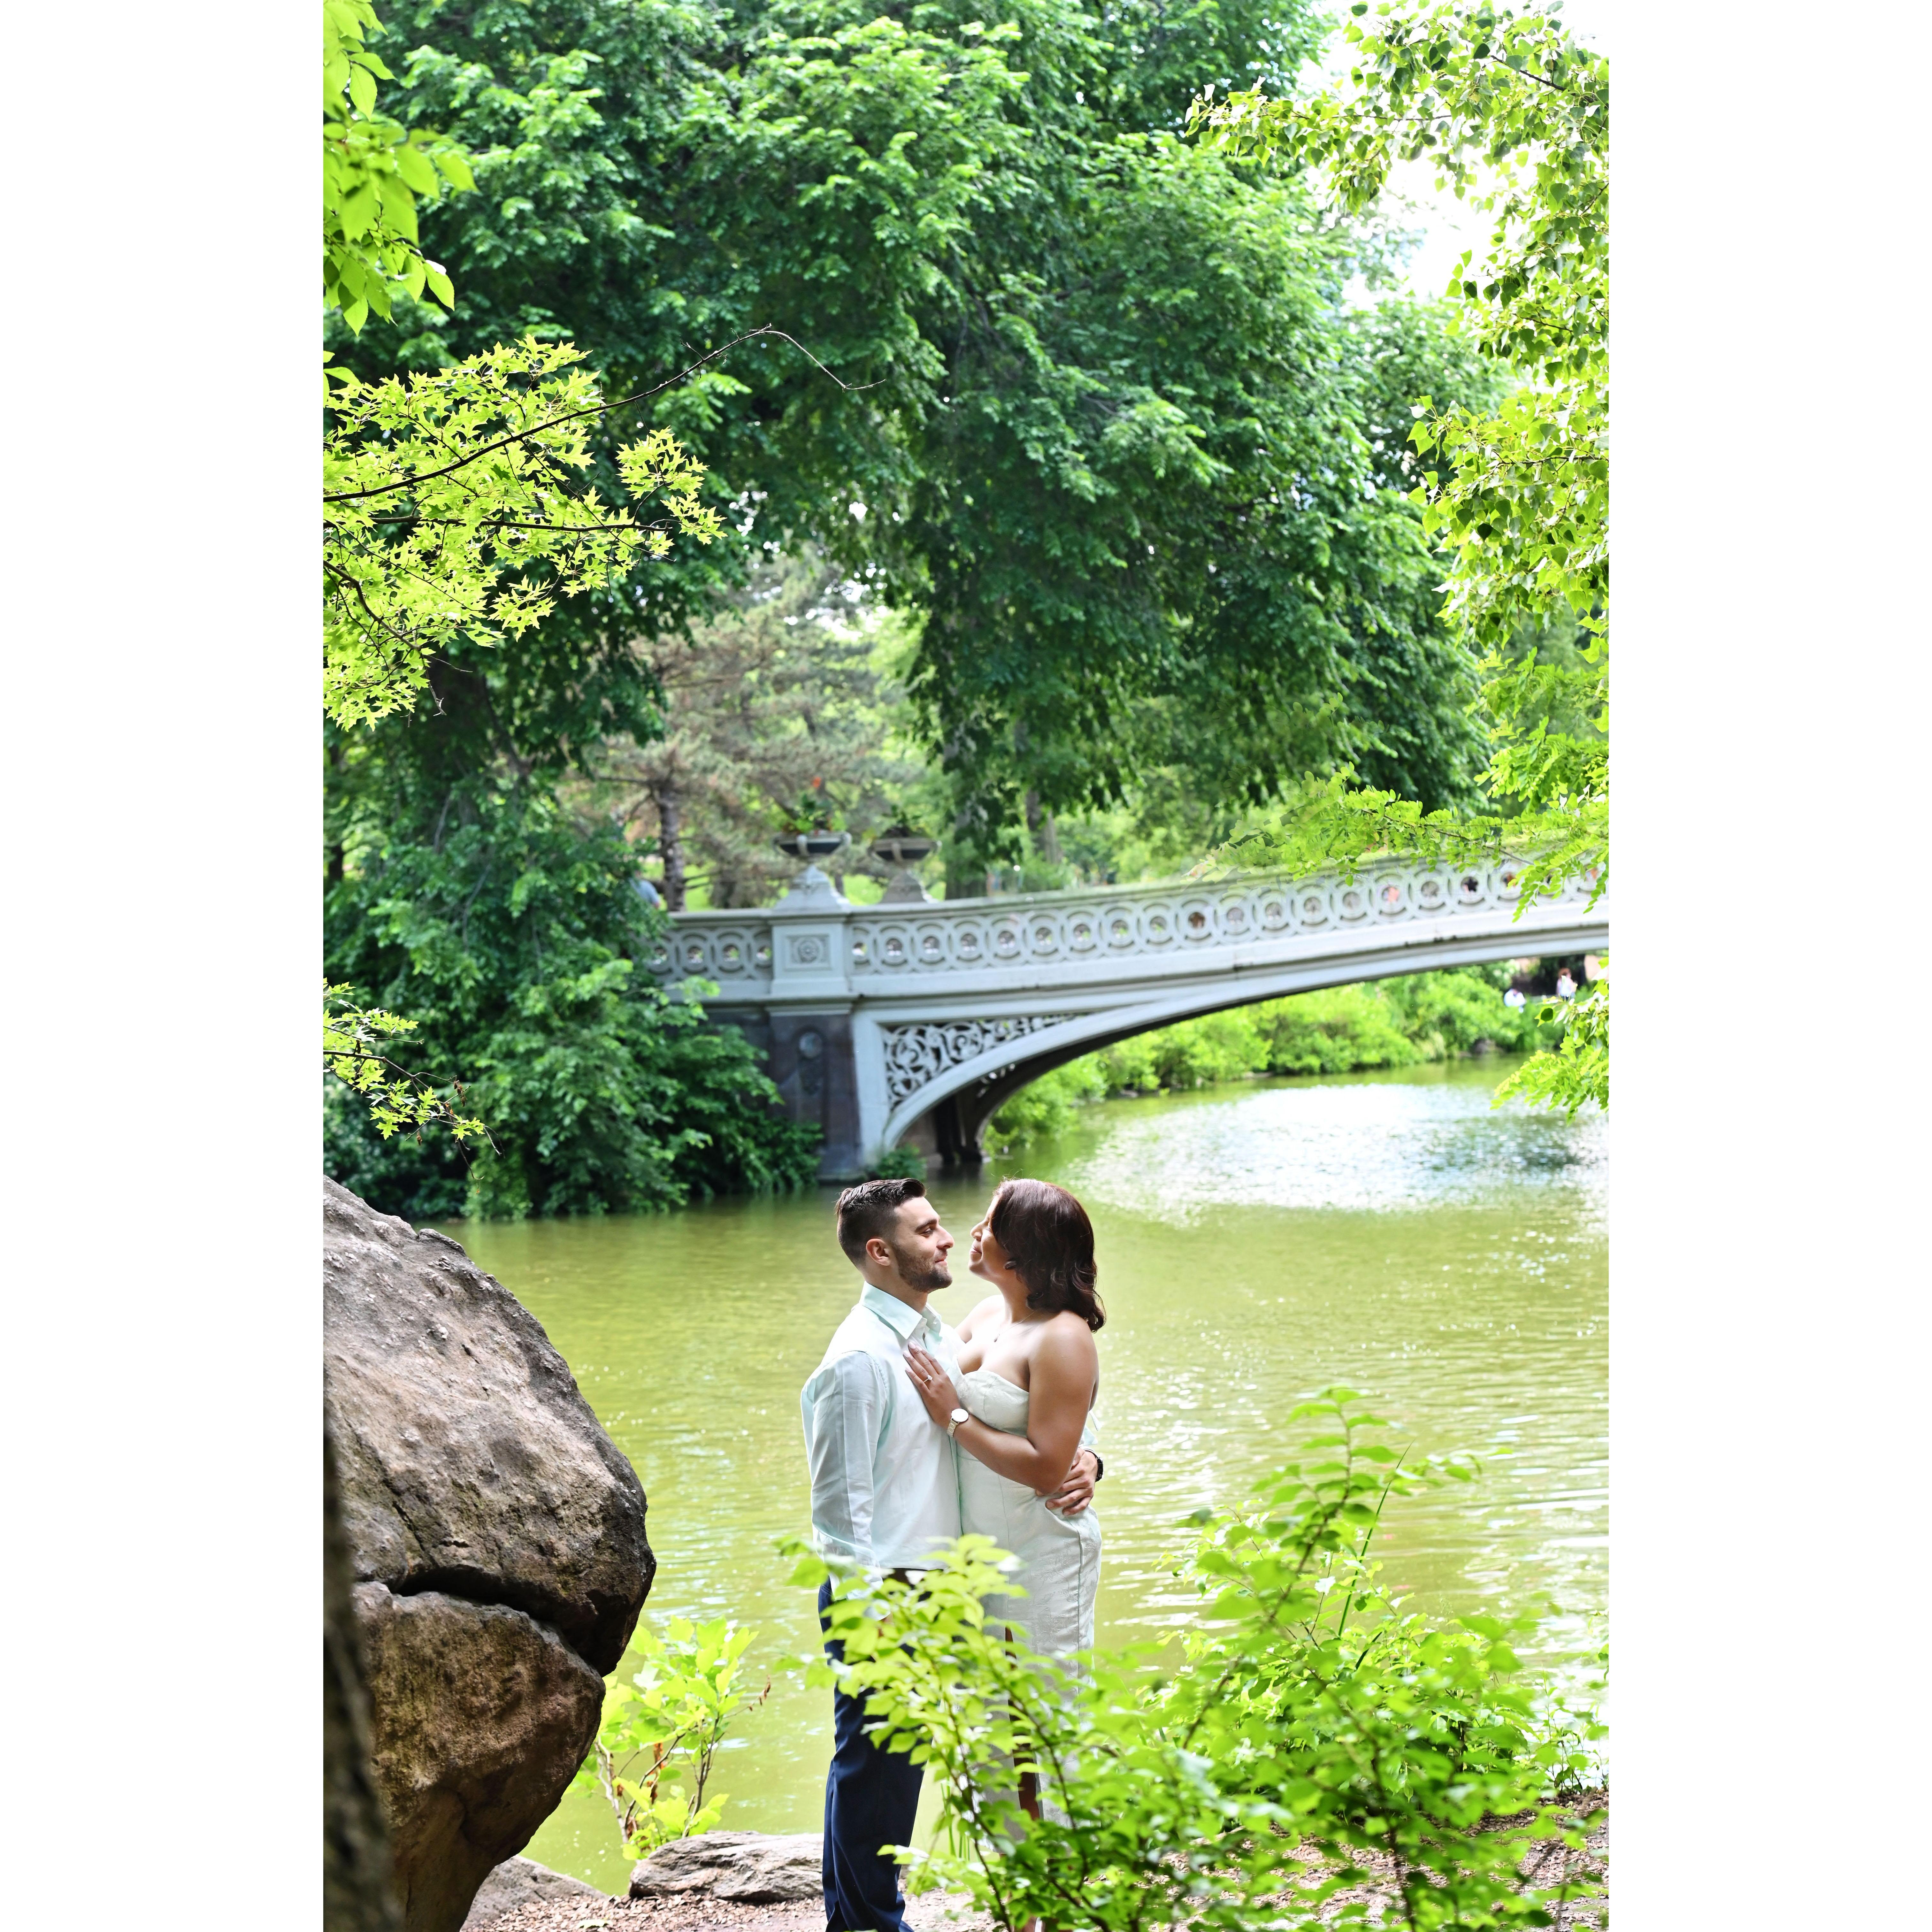
{"type": "MultiPolygon", "coordinates": [[[[838,1246],[864,1277],[858,1306],[838,1323],[825,1360],[800,1395],[811,1464],[811,1530],[837,1569],[931,1569],[960,1534],[958,1461],[906,1374],[906,1345],[937,1356],[960,1379],[956,1337],[925,1306],[951,1287],[952,1236],[922,1180],[866,1180],[838,1196],[838,1246]]],[[[1099,1457],[1082,1449],[1049,1507],[1086,1509],[1099,1457]]],[[[831,1582],[819,1590],[819,1615],[831,1582]]],[[[837,1656],[838,1646],[827,1650],[837,1656]]],[[[881,1847],[910,1845],[922,1766],[879,1750],[866,1706],[833,1690],[833,1762],[825,1774],[827,1932],[904,1932],[898,1866],[881,1847]]]]}

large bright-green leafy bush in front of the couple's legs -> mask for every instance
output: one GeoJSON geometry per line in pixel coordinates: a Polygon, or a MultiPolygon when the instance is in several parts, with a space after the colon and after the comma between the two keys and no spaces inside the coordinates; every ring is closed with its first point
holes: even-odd
{"type": "Polygon", "coordinates": [[[970,1891],[1001,1932],[1536,1926],[1600,1889],[1563,1799],[1602,1727],[1522,1681],[1530,1623],[1432,1621],[1376,1582],[1383,1503],[1468,1472],[1405,1472],[1347,1389],[1296,1416],[1320,1426],[1302,1459],[1202,1522],[1202,1609],[1165,1646],[1016,1652],[985,1625],[1007,1578],[980,1536],[920,1584],[837,1586],[844,1663],[813,1675],[933,1772],[943,1833],[900,1851],[918,1888],[970,1891]]]}

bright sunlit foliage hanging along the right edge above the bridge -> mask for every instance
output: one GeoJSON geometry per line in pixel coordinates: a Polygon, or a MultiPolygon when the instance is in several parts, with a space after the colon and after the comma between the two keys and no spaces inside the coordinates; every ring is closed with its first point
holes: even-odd
{"type": "MultiPolygon", "coordinates": [[[[1360,211],[1397,160],[1432,160],[1439,185],[1493,216],[1488,257],[1463,257],[1451,292],[1474,342],[1519,383],[1492,408],[1418,400],[1428,466],[1414,497],[1449,554],[1449,612],[1486,651],[1482,715],[1490,811],[1430,810],[1399,786],[1331,781],[1244,856],[1296,866],[1408,852],[1517,864],[1520,904],[1569,879],[1609,885],[1609,62],[1555,10],[1488,0],[1385,0],[1352,10],[1347,87],[1294,99],[1238,89],[1196,104],[1225,153],[1291,155],[1325,170],[1360,211]],[[1573,618],[1567,661],[1520,649],[1573,618]]],[[[1575,1009],[1573,1009],[1575,1016],[1575,1009]]],[[[1573,1024],[1580,1024],[1573,1018],[1573,1024]]],[[[1511,1092],[1575,1111],[1609,1103],[1609,993],[1578,1036],[1511,1092]]]]}

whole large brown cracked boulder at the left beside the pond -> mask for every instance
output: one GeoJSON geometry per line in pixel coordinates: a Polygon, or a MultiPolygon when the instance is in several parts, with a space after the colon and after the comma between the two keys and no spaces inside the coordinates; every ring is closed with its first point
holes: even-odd
{"type": "Polygon", "coordinates": [[[643,1490],[516,1296],[332,1180],[323,1337],[396,1891],[408,1932],[458,1932],[597,1735],[643,1490]]]}

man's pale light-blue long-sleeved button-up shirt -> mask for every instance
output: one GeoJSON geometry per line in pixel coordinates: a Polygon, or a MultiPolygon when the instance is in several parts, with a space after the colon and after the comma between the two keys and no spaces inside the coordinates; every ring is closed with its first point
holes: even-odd
{"type": "Polygon", "coordinates": [[[798,1399],[811,1534],[829,1563],[931,1569],[960,1534],[958,1451],[906,1374],[914,1341],[958,1389],[952,1329],[867,1281],[798,1399]]]}

